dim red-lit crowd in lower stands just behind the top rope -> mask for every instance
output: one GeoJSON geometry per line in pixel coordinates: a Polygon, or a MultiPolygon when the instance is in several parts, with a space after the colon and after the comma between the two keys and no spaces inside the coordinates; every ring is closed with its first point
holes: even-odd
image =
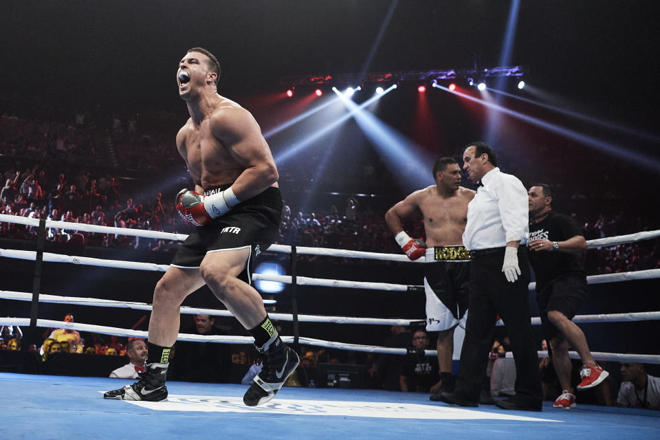
{"type": "MultiPolygon", "coordinates": [[[[175,210],[172,197],[161,193],[134,201],[133,194],[122,193],[111,175],[93,175],[85,168],[74,175],[47,173],[37,165],[31,169],[8,166],[3,171],[5,186],[0,192],[0,213],[72,223],[138,228],[165,232],[184,232],[189,227],[175,210]]],[[[371,252],[399,253],[384,221],[384,210],[360,206],[349,197],[341,211],[335,205],[318,212],[292,212],[285,206],[278,243],[318,248],[340,248],[371,252]]],[[[574,214],[574,217],[575,214],[574,214]]],[[[629,221],[623,214],[600,215],[585,222],[587,239],[638,232],[646,229],[639,219],[629,221]]],[[[409,217],[404,225],[410,236],[423,238],[423,223],[409,217]]],[[[37,229],[15,223],[0,223],[0,236],[36,239],[37,229]]],[[[76,232],[51,228],[48,241],[155,251],[175,248],[176,243],[139,239],[119,234],[76,232]]],[[[660,267],[660,243],[642,241],[589,251],[586,267],[591,274],[629,272],[660,267]]]]}

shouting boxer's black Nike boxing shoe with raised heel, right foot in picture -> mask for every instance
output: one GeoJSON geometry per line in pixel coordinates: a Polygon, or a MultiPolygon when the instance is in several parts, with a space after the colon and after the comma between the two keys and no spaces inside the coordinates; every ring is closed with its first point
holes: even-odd
{"type": "Polygon", "coordinates": [[[265,344],[264,348],[256,347],[256,351],[261,356],[263,368],[254,376],[243,396],[243,403],[247,406],[265,404],[275,397],[300,363],[298,354],[289,349],[279,336],[265,344]]]}

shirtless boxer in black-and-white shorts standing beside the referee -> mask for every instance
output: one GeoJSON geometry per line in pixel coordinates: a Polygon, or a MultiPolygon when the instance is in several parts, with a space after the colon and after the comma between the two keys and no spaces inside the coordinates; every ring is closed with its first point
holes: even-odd
{"type": "Polygon", "coordinates": [[[439,331],[437,351],[441,380],[431,391],[439,393],[451,389],[454,329],[459,322],[465,325],[465,283],[470,277],[470,256],[463,247],[463,230],[467,203],[475,192],[461,186],[461,167],[452,157],[442,157],[435,162],[433,177],[434,186],[417,190],[399,201],[385,214],[385,221],[410,260],[426,254],[426,331],[439,331]],[[401,225],[401,219],[417,210],[423,216],[426,244],[411,239],[401,225]]]}

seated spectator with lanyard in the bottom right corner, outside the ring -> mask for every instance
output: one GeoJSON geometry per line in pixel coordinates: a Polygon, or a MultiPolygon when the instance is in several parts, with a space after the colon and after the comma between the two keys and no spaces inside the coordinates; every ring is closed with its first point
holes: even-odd
{"type": "Polygon", "coordinates": [[[660,377],[646,374],[643,364],[621,362],[621,379],[617,406],[660,410],[660,377]]]}

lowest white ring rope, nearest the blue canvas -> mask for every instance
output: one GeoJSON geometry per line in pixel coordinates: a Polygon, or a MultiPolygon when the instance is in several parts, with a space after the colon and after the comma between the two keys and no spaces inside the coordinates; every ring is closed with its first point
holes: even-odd
{"type": "MultiPolygon", "coordinates": [[[[30,325],[30,318],[0,318],[0,325],[30,325]]],[[[77,331],[89,331],[91,333],[100,333],[104,335],[124,336],[130,338],[146,338],[148,332],[143,330],[120,329],[118,327],[106,327],[102,325],[81,324],[80,322],[64,322],[56,320],[39,319],[36,321],[37,327],[46,328],[67,328],[77,331]]],[[[252,344],[254,339],[251,336],[202,336],[190,333],[179,333],[177,340],[188,342],[217,342],[223,344],[252,344]]],[[[293,342],[293,336],[282,336],[284,342],[293,342]]],[[[406,355],[408,349],[398,349],[390,347],[377,347],[373,345],[349,344],[346,342],[326,341],[316,338],[298,338],[300,344],[313,345],[314,347],[326,347],[331,349],[343,349],[351,351],[362,351],[365,353],[384,353],[393,355],[406,355]]],[[[426,356],[436,356],[435,350],[424,350],[426,356]]],[[[620,353],[604,353],[592,351],[591,355],[595,360],[616,361],[616,362],[645,362],[648,364],[660,364],[660,355],[636,355],[620,353]]],[[[580,359],[576,351],[569,351],[571,359],[580,359]]],[[[507,358],[513,358],[513,353],[506,354],[507,358]]],[[[538,351],[539,358],[547,358],[547,351],[538,351]]]]}

